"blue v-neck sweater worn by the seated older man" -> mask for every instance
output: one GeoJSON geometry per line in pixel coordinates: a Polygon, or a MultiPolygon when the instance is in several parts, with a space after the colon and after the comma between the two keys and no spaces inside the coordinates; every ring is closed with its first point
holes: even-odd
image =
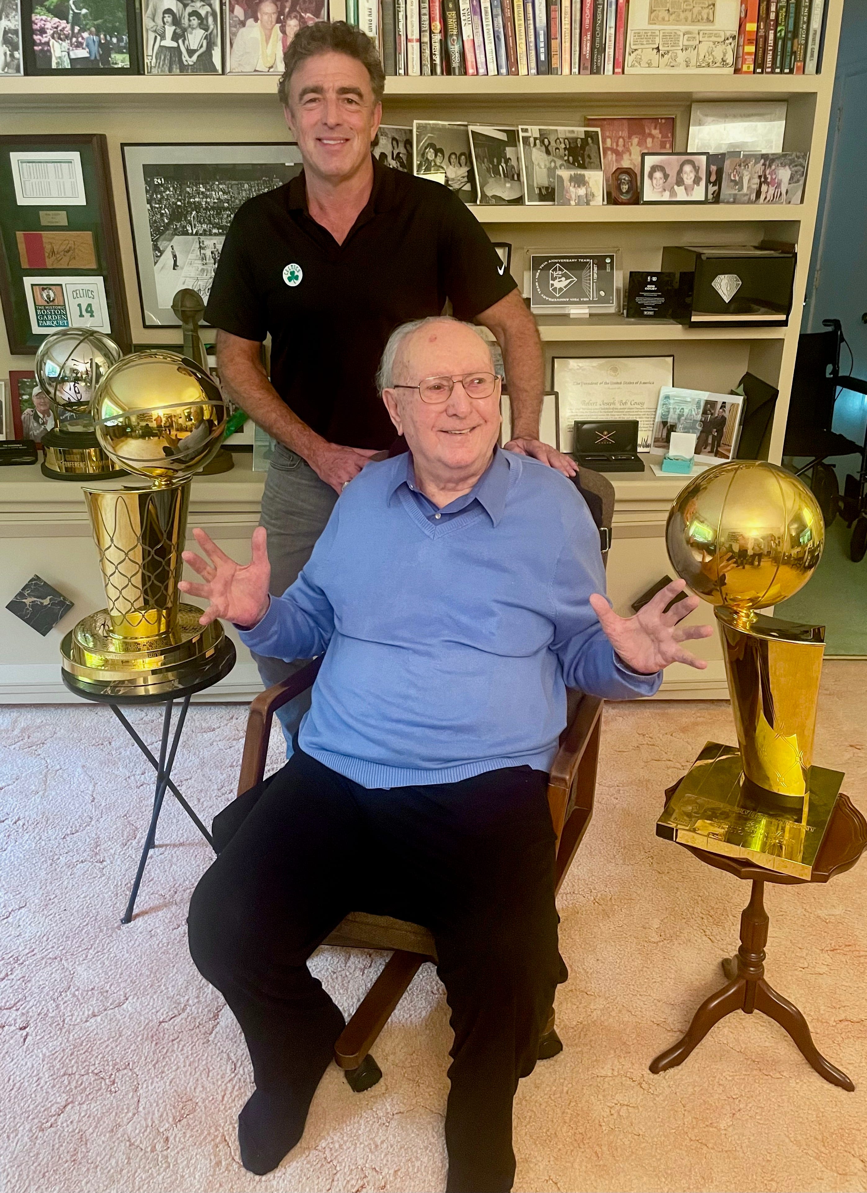
{"type": "Polygon", "coordinates": [[[298,742],[365,787],[549,771],[566,687],[624,700],[662,680],[620,662],[588,602],[605,593],[599,531],[564,476],[497,450],[453,506],[432,512],[405,455],[369,464],[241,633],[272,659],[328,648],[298,742]]]}

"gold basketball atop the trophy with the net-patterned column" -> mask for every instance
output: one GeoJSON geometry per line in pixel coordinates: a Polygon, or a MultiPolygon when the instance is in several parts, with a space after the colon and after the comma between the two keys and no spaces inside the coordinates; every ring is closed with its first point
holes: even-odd
{"type": "Polygon", "coordinates": [[[107,456],[163,487],[187,480],[217,453],[225,403],[194,360],[174,352],[136,352],[100,382],[93,420],[107,456]]]}

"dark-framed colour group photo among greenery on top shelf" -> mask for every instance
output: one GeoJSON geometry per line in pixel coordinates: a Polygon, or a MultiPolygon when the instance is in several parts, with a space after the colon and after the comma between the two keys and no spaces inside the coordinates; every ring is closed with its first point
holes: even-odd
{"type": "Polygon", "coordinates": [[[21,0],[25,73],[140,74],[135,0],[21,0]]]}

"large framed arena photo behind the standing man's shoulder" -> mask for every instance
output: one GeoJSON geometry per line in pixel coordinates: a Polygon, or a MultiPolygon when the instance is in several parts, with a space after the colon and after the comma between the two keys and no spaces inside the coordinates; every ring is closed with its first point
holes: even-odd
{"type": "Polygon", "coordinates": [[[295,143],[123,144],[144,327],[179,327],[172,299],[208,302],[229,224],[242,203],[301,173],[295,143]]]}

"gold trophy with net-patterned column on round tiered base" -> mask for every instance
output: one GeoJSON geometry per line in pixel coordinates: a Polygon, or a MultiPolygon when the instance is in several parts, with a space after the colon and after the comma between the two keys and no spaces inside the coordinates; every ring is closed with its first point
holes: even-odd
{"type": "Polygon", "coordinates": [[[137,352],[101,378],[92,416],[109,459],[151,483],[83,490],[107,607],[63,638],[63,680],[91,699],[199,691],[235,661],[219,622],[202,626],[202,610],[181,604],[178,589],[191,477],[219,449],[222,395],[196,361],[137,352]]]}

